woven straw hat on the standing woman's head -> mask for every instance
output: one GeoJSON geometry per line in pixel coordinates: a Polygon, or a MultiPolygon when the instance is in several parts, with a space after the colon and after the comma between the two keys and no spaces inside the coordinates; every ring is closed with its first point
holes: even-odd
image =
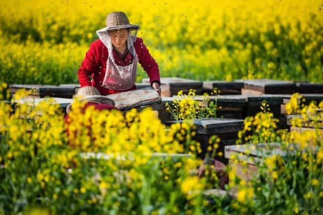
{"type": "Polygon", "coordinates": [[[139,29],[138,25],[132,25],[124,12],[112,12],[106,16],[105,27],[107,30],[129,28],[130,30],[139,29]]]}

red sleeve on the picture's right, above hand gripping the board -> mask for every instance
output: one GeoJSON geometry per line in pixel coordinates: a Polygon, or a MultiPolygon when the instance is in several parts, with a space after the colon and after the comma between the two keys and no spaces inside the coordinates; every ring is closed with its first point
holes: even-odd
{"type": "Polygon", "coordinates": [[[157,82],[160,85],[159,68],[155,59],[152,58],[141,38],[137,38],[135,43],[136,51],[139,50],[137,51],[139,63],[149,76],[150,84],[157,82]]]}

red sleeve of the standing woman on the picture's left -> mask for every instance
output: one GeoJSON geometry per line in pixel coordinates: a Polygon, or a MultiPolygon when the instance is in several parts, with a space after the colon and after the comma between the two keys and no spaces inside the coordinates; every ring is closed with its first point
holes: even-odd
{"type": "Polygon", "coordinates": [[[85,54],[85,58],[79,68],[77,74],[81,87],[91,86],[90,76],[98,69],[99,47],[94,41],[91,43],[89,50],[85,54]]]}

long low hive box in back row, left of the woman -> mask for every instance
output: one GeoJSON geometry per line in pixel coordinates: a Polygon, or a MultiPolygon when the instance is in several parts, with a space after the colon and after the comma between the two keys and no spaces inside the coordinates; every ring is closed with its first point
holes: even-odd
{"type": "Polygon", "coordinates": [[[12,84],[10,85],[11,94],[15,94],[18,89],[36,89],[35,97],[45,96],[72,98],[76,88],[73,86],[54,86],[54,85],[33,85],[33,84],[12,84]]]}

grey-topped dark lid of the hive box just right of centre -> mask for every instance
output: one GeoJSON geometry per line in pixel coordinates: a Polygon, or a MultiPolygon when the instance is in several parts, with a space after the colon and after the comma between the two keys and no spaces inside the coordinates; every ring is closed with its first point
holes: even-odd
{"type": "MultiPolygon", "coordinates": [[[[243,128],[243,120],[236,119],[208,118],[189,121],[196,126],[196,134],[221,134],[238,132],[243,128]]],[[[183,120],[169,121],[166,122],[166,125],[183,122],[183,120]]]]}

